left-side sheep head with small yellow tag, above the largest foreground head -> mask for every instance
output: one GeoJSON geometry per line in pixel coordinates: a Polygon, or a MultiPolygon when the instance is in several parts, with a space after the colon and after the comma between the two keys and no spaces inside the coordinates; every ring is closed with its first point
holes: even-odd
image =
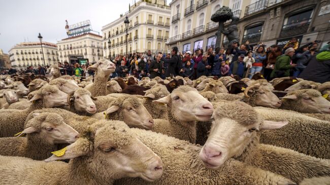
{"type": "Polygon", "coordinates": [[[33,118],[25,123],[25,129],[18,135],[38,133],[49,144],[73,143],[79,133],[56,113],[31,113],[33,118]]]}

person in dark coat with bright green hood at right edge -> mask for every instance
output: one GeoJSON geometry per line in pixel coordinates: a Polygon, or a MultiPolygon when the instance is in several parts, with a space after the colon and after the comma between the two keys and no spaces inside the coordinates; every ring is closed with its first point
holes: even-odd
{"type": "Polygon", "coordinates": [[[299,78],[318,83],[330,82],[330,42],[312,56],[299,78]]]}

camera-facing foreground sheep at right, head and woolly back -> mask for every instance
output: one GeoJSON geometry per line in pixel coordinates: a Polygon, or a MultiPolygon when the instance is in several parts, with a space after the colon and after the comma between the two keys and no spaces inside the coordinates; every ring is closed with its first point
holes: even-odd
{"type": "Polygon", "coordinates": [[[329,161],[259,144],[259,130],[281,128],[288,122],[264,122],[251,106],[238,101],[218,106],[213,118],[209,138],[200,152],[200,159],[208,168],[218,168],[234,157],[296,183],[304,178],[330,175],[329,161]]]}

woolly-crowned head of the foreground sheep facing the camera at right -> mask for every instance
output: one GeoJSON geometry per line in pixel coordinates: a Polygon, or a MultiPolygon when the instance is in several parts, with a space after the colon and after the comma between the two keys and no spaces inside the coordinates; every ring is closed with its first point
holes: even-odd
{"type": "Polygon", "coordinates": [[[209,137],[200,159],[207,168],[216,169],[227,159],[239,157],[257,137],[258,130],[281,128],[288,122],[263,122],[255,110],[243,102],[224,103],[213,114],[209,137]],[[243,116],[244,115],[244,116],[243,116]]]}

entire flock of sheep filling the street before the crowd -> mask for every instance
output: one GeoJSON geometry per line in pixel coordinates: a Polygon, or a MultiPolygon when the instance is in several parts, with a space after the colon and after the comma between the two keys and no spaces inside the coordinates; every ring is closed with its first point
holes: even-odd
{"type": "Polygon", "coordinates": [[[0,184],[330,184],[330,82],[89,69],[0,76],[0,184]]]}

